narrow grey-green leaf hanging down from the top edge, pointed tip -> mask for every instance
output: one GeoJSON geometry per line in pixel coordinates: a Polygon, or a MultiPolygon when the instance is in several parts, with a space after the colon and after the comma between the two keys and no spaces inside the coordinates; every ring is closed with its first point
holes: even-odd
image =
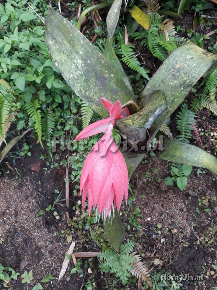
{"type": "Polygon", "coordinates": [[[121,4],[122,4],[122,0],[115,0],[112,3],[112,6],[108,11],[108,15],[106,18],[106,26],[108,29],[108,34],[109,34],[110,39],[112,38],[112,36],[115,32],[115,28],[118,24],[118,19],[119,19],[120,10],[121,10],[121,4]]]}

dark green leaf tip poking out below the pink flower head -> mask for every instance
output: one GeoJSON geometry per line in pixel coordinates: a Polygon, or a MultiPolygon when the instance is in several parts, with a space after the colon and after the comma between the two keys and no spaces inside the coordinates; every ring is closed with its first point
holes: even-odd
{"type": "Polygon", "coordinates": [[[104,224],[105,235],[112,247],[119,252],[120,243],[124,238],[125,230],[120,220],[120,214],[115,210],[115,216],[110,224],[108,218],[104,224]]]}

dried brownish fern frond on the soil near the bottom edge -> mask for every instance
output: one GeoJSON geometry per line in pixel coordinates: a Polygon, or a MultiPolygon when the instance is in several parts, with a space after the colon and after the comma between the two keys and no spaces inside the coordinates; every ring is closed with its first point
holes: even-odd
{"type": "Polygon", "coordinates": [[[142,261],[140,255],[136,254],[137,252],[133,252],[131,255],[135,258],[135,261],[132,263],[133,269],[131,270],[131,274],[142,281],[148,283],[149,287],[152,287],[152,280],[150,278],[150,272],[152,269],[148,269],[142,261]]]}

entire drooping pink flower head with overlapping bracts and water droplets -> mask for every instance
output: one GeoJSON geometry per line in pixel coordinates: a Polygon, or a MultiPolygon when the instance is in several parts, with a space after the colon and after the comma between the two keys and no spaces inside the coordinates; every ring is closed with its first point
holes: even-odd
{"type": "Polygon", "coordinates": [[[88,197],[89,216],[92,207],[97,208],[104,219],[111,209],[120,210],[123,197],[127,202],[128,172],[124,157],[118,150],[112,138],[112,129],[115,120],[129,116],[127,108],[122,110],[117,100],[114,104],[101,98],[102,104],[109,112],[110,117],[99,120],[86,127],[75,140],[90,137],[102,132],[106,133],[88,154],[80,178],[80,192],[83,192],[83,209],[88,197]]]}

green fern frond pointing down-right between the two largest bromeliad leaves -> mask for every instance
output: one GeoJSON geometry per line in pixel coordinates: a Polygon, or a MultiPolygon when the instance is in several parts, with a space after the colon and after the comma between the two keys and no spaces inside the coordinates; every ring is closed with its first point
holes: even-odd
{"type": "Polygon", "coordinates": [[[123,44],[121,46],[122,50],[122,61],[126,63],[129,68],[138,72],[141,76],[149,80],[146,69],[144,69],[140,62],[137,60],[136,53],[133,51],[134,45],[123,44]]]}

